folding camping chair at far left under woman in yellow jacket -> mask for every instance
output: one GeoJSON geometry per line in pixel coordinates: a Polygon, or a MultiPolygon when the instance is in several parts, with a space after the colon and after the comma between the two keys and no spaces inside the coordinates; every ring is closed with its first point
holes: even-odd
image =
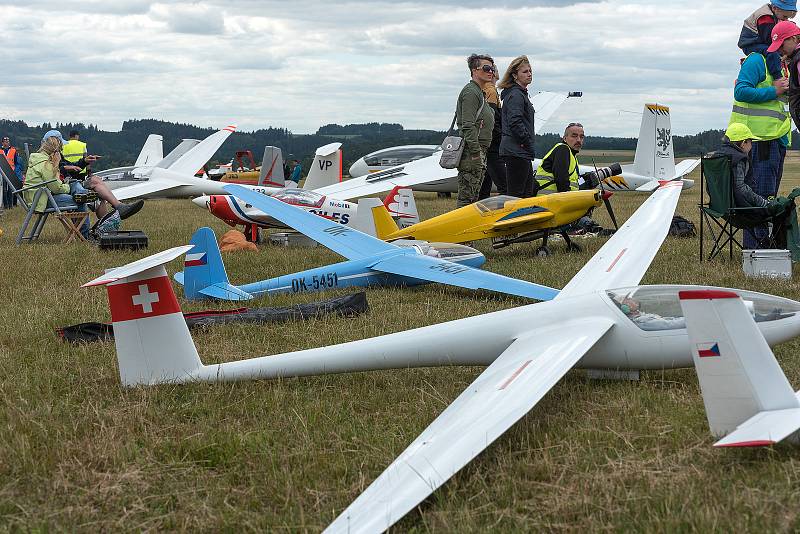
{"type": "Polygon", "coordinates": [[[67,236],[64,239],[65,243],[73,239],[86,241],[83,235],[81,235],[80,228],[89,217],[89,213],[78,211],[77,204],[68,206],[59,206],[56,204],[53,194],[50,192],[50,189],[47,188],[47,185],[54,182],[55,179],[25,187],[4,158],[0,158],[0,174],[2,174],[6,186],[9,187],[11,192],[17,197],[19,205],[27,212],[25,214],[25,220],[19,229],[19,234],[17,234],[17,245],[23,241],[30,243],[38,239],[39,234],[42,233],[42,228],[44,228],[44,223],[47,222],[47,217],[51,213],[55,214],[61,222],[61,225],[67,231],[67,236]],[[5,163],[5,165],[3,165],[3,163],[5,163]],[[25,201],[24,193],[26,191],[35,191],[33,201],[30,204],[25,201]],[[44,210],[37,211],[35,207],[42,197],[46,197],[47,199],[45,208],[44,210]],[[33,225],[31,225],[31,222],[33,225]],[[30,231],[26,233],[29,227],[30,231]]]}

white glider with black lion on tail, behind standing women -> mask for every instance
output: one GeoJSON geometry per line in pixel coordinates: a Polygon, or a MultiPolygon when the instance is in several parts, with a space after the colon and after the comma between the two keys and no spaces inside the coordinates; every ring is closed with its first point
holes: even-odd
{"type": "MultiPolygon", "coordinates": [[[[537,97],[555,93],[539,93],[531,98],[536,109],[536,118],[540,118],[537,97]]],[[[563,96],[563,95],[556,95],[563,96]]],[[[561,99],[566,98],[565,96],[561,99]]],[[[558,105],[561,104],[560,101],[558,105]]],[[[556,105],[556,108],[558,107],[556,105]]],[[[556,108],[550,105],[552,114],[556,108]]],[[[547,115],[549,117],[549,115],[547,115]]],[[[541,131],[537,122],[536,131],[541,131]]],[[[534,170],[539,168],[541,159],[533,160],[534,170]]],[[[675,164],[672,143],[672,127],[670,111],[666,106],[645,104],[639,140],[633,164],[622,165],[622,174],[603,179],[603,187],[612,191],[646,191],[652,192],[662,180],[683,180],[684,187],[694,185],[694,181],[683,178],[699,165],[698,159],[686,159],[675,164]]],[[[580,174],[594,171],[594,167],[580,165],[580,174]]],[[[322,188],[319,193],[331,198],[348,200],[383,193],[396,185],[411,187],[414,191],[453,193],[458,191],[457,169],[443,169],[439,165],[439,153],[409,163],[398,165],[383,171],[345,180],[342,183],[322,188]]]]}

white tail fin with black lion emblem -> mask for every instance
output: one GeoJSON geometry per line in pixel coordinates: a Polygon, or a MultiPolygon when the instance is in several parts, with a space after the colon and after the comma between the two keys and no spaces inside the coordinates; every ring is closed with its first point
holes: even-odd
{"type": "Polygon", "coordinates": [[[656,180],[671,180],[675,176],[675,152],[667,106],[645,104],[631,170],[656,180]]]}

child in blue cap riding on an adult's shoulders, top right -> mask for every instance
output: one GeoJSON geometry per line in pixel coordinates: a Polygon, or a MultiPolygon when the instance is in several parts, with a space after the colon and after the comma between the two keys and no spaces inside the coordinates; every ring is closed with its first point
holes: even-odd
{"type": "Polygon", "coordinates": [[[763,54],[767,58],[769,73],[776,80],[784,77],[781,73],[781,57],[776,52],[767,52],[772,43],[772,29],[782,20],[794,18],[797,14],[797,0],[770,0],[744,21],[739,35],[739,48],[746,55],[763,54]]]}

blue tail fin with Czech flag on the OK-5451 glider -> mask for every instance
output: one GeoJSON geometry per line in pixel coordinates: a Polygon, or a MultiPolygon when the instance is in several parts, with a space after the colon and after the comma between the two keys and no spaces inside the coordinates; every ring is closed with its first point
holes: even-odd
{"type": "Polygon", "coordinates": [[[223,300],[249,300],[252,298],[250,294],[228,281],[228,273],[225,272],[217,238],[211,228],[205,226],[199,228],[189,243],[193,248],[186,253],[183,273],[175,275],[175,279],[183,284],[187,299],[212,297],[223,300]]]}

